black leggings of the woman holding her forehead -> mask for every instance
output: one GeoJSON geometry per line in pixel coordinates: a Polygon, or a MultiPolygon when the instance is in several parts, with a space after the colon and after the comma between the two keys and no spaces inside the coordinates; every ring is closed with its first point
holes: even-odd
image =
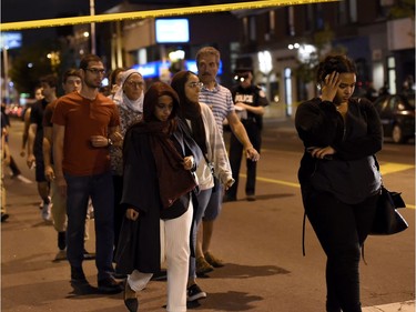
{"type": "Polygon", "coordinates": [[[326,192],[305,197],[306,215],[327,256],[326,311],[361,312],[361,248],[372,228],[377,195],[346,204],[326,192]]]}

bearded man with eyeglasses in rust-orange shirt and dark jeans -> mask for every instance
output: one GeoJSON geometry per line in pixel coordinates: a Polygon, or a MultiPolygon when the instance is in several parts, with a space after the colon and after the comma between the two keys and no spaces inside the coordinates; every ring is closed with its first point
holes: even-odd
{"type": "Polygon", "coordinates": [[[120,144],[120,117],[115,104],[99,93],[105,70],[98,56],[80,62],[82,89],[58,99],[52,115],[55,183],[67,195],[67,258],[71,283],[88,290],[82,261],[89,198],[94,207],[98,290],[119,293],[113,279],[114,210],[109,147],[120,144]]]}

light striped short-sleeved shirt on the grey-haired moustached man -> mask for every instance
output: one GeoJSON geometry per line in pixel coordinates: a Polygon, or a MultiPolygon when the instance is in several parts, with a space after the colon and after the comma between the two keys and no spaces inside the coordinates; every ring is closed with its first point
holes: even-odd
{"type": "Polygon", "coordinates": [[[216,84],[213,90],[203,87],[200,92],[200,102],[212,109],[220,133],[223,134],[224,119],[235,110],[231,91],[221,84],[216,84]]]}

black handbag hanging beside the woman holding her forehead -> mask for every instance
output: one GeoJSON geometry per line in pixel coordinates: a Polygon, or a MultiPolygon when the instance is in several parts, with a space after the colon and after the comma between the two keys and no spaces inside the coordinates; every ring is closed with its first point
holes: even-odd
{"type": "Polygon", "coordinates": [[[406,204],[400,193],[390,192],[382,185],[381,195],[377,201],[377,209],[373,221],[371,235],[392,235],[408,228],[406,220],[397,211],[406,204]]]}

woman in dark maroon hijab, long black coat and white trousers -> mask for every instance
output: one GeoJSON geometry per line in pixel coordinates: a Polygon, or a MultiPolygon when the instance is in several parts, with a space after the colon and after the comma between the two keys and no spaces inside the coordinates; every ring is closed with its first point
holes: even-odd
{"type": "Polygon", "coordinates": [[[136,311],[136,292],[168,264],[168,311],[186,311],[193,171],[201,150],[176,118],[179,99],[166,83],[146,91],[143,120],[124,138],[126,207],[116,251],[118,270],[126,273],[124,303],[136,311]]]}

